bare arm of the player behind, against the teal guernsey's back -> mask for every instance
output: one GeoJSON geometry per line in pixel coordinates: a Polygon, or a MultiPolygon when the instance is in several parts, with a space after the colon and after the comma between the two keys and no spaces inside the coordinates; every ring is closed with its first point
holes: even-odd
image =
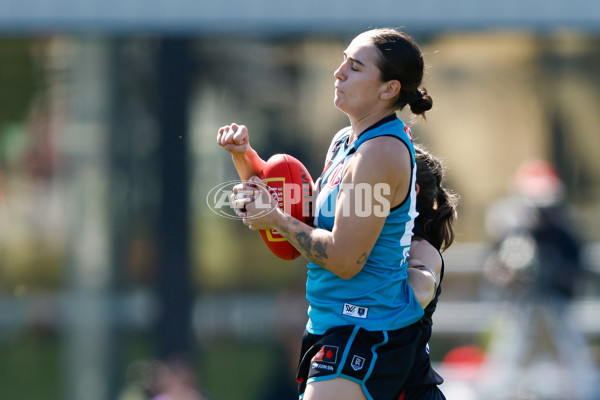
{"type": "Polygon", "coordinates": [[[408,283],[421,307],[425,308],[435,297],[440,282],[442,256],[429,242],[414,237],[408,258],[408,283]]]}

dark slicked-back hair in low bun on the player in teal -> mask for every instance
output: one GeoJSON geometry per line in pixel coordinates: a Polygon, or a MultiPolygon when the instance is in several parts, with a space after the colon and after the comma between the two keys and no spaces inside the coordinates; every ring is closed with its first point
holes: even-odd
{"type": "Polygon", "coordinates": [[[407,104],[413,114],[425,118],[433,106],[427,89],[419,87],[425,64],[421,50],[408,34],[393,28],[378,28],[367,32],[379,50],[377,66],[383,82],[398,80],[401,88],[394,106],[402,110],[407,104]]]}

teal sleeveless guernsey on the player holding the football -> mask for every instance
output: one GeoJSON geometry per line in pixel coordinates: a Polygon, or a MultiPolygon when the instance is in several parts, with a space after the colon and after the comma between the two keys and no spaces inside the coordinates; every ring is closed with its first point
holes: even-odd
{"type": "MultiPolygon", "coordinates": [[[[315,226],[331,231],[339,185],[348,161],[360,145],[379,136],[401,140],[411,154],[411,189],[404,201],[390,210],[383,229],[362,270],[342,279],[314,263],[308,264],[306,329],[323,334],[334,326],[358,325],[367,330],[395,330],[423,316],[423,309],[408,285],[407,258],[416,211],[416,163],[410,129],[395,115],[384,118],[348,145],[350,129],[338,132],[329,148],[325,169],[316,182],[315,226]]],[[[375,198],[375,197],[374,197],[375,198]]],[[[373,205],[375,205],[373,200],[373,205]]]]}

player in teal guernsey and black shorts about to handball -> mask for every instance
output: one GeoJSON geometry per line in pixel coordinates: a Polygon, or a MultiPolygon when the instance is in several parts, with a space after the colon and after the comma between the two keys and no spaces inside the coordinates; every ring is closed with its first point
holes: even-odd
{"type": "MultiPolygon", "coordinates": [[[[305,400],[397,400],[420,349],[423,308],[407,273],[416,163],[410,130],[396,111],[407,104],[416,115],[431,109],[419,87],[423,69],[407,34],[359,34],[334,73],[334,104],[350,126],[334,136],[317,180],[314,226],[279,209],[264,188],[260,202],[251,197],[236,210],[250,229],[276,229],[309,261],[309,320],[297,375],[305,400]],[[377,187],[386,190],[365,213],[358,189],[377,187]]],[[[217,141],[249,179],[234,194],[254,190],[264,161],[250,148],[247,129],[222,127],[217,141]]]]}

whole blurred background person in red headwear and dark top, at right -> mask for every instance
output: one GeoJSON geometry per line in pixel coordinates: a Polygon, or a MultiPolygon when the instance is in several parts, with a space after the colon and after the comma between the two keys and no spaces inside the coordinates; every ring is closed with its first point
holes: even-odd
{"type": "MultiPolygon", "coordinates": [[[[540,348],[540,343],[550,339],[559,358],[554,365],[568,368],[561,375],[564,395],[598,399],[598,370],[568,307],[585,268],[580,241],[566,213],[564,185],[550,163],[533,161],[517,170],[513,189],[512,195],[492,205],[486,219],[494,248],[485,276],[510,299],[508,318],[490,344],[495,369],[486,375],[493,376],[494,390],[535,385],[522,378],[523,370],[536,357],[547,359],[548,349],[540,348]]],[[[520,393],[505,394],[513,398],[520,393]]]]}

